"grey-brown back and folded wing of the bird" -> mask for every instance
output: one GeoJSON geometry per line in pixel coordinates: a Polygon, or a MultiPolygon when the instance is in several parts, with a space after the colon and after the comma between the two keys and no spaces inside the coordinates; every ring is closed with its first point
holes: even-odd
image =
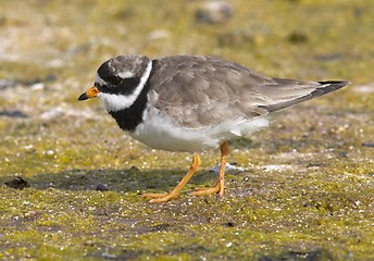
{"type": "Polygon", "coordinates": [[[150,91],[158,94],[153,105],[190,128],[265,115],[335,88],[324,91],[326,85],[316,82],[273,79],[214,57],[167,57],[155,66],[150,78],[150,91]]]}

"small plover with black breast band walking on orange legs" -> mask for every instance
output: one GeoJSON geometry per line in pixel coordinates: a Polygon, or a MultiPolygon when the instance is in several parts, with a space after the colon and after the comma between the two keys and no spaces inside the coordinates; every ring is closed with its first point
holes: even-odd
{"type": "Polygon", "coordinates": [[[346,80],[264,76],[210,55],[117,55],[102,63],[78,100],[99,98],[117,125],[153,149],[192,153],[187,174],[170,192],[144,194],[150,202],[176,198],[198,171],[201,151],[221,149],[214,186],[192,195],[224,195],[228,140],[269,127],[280,111],[346,86],[346,80]]]}

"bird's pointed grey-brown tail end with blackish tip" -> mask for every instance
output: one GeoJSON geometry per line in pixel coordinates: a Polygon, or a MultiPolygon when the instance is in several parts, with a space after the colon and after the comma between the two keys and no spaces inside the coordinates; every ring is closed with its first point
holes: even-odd
{"type": "Polygon", "coordinates": [[[302,101],[314,99],[338,90],[349,84],[349,82],[344,80],[299,82],[283,78],[276,78],[274,80],[276,85],[266,86],[266,89],[271,90],[269,95],[272,96],[272,103],[259,105],[259,108],[267,112],[278,111],[302,101]]]}

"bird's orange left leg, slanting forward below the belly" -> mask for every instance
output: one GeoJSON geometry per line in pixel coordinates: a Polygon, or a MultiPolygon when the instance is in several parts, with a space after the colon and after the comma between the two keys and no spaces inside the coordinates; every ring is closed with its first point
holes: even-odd
{"type": "Polygon", "coordinates": [[[179,195],[183,187],[188,183],[188,181],[191,178],[191,176],[194,176],[194,174],[197,172],[200,163],[201,163],[201,161],[200,161],[199,154],[194,153],[194,159],[192,159],[192,163],[189,167],[189,171],[182,178],[182,181],[173,189],[172,192],[170,192],[170,194],[144,194],[142,196],[147,197],[147,198],[153,198],[150,200],[150,202],[152,202],[152,203],[162,203],[162,202],[169,201],[172,198],[176,198],[179,195]]]}

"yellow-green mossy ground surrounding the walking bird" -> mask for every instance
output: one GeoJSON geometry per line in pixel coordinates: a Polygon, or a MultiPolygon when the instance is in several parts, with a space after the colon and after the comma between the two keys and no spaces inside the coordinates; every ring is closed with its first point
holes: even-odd
{"type": "Polygon", "coordinates": [[[200,1],[1,2],[0,259],[374,259],[373,1],[232,2],[219,25],[196,22],[200,1]],[[212,150],[178,199],[151,204],[139,194],[172,189],[190,154],[147,148],[76,100],[119,53],[352,84],[230,142],[246,171],[222,199],[188,195],[214,183],[212,150]],[[15,176],[30,187],[3,185],[15,176]]]}

